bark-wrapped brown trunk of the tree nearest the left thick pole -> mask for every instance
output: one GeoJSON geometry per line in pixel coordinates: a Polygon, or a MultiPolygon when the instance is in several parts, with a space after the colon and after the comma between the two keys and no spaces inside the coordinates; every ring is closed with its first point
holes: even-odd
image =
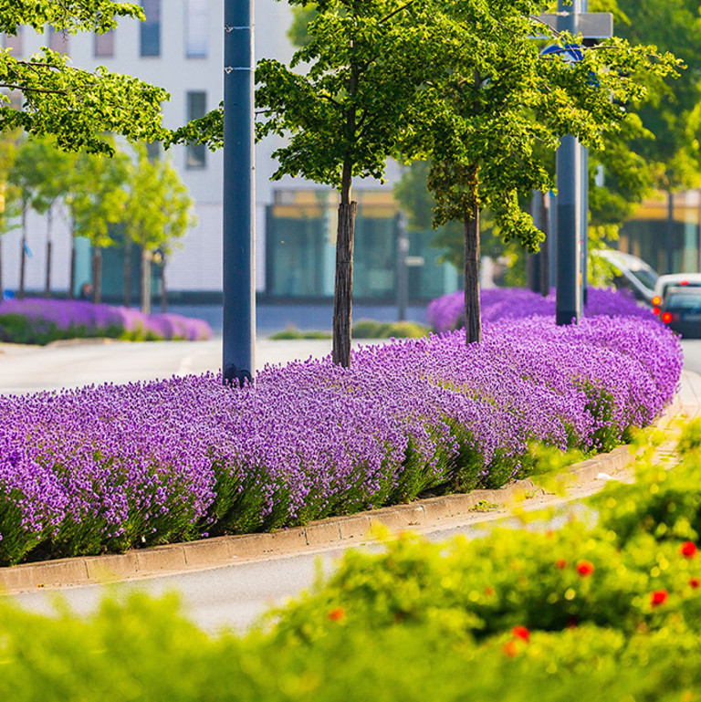
{"type": "Polygon", "coordinates": [[[336,239],[336,286],[333,293],[333,362],[344,368],[351,365],[353,324],[353,241],[357,203],[339,205],[336,239]]]}

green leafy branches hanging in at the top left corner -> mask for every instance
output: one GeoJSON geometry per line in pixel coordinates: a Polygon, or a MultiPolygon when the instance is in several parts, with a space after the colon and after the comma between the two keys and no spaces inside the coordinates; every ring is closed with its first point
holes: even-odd
{"type": "MultiPolygon", "coordinates": [[[[120,16],[143,19],[138,4],[111,0],[4,0],[0,32],[16,35],[20,26],[43,31],[104,33],[120,16]]],[[[54,136],[68,151],[111,153],[105,133],[132,140],[163,138],[162,102],[168,93],[106,68],[75,68],[68,58],[47,48],[29,58],[0,49],[0,131],[23,130],[32,137],[54,136]],[[22,96],[16,106],[7,91],[22,96]]]]}

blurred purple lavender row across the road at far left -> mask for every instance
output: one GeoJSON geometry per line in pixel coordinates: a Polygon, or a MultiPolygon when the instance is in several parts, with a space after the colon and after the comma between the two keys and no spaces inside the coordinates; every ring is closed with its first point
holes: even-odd
{"type": "Polygon", "coordinates": [[[177,314],[143,314],[138,309],[82,300],[10,299],[0,302],[0,325],[7,315],[26,320],[28,332],[37,338],[50,339],[59,334],[201,341],[212,337],[204,320],[177,314]]]}

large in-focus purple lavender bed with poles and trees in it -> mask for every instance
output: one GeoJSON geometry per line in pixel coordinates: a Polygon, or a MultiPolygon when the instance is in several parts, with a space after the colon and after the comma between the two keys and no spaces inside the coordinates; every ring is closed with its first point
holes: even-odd
{"type": "Polygon", "coordinates": [[[0,397],[0,561],[273,529],[528,473],[534,442],[606,449],[672,399],[653,321],[533,318],[266,367],[0,397]]]}

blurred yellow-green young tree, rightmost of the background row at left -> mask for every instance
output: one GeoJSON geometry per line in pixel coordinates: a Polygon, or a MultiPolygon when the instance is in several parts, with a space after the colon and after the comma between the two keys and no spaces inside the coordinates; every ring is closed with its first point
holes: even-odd
{"type": "Polygon", "coordinates": [[[149,160],[146,147],[134,148],[128,198],[121,222],[125,242],[141,249],[141,310],[151,312],[151,269],[154,256],[162,262],[163,304],[165,262],[174,243],[196,223],[193,199],[180,176],[167,160],[149,160]]]}

